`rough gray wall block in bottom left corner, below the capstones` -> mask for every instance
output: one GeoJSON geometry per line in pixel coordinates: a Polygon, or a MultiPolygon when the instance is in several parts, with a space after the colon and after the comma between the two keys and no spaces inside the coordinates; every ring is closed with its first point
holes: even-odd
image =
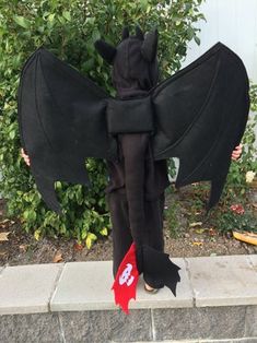
{"type": "Polygon", "coordinates": [[[0,343],[62,342],[56,314],[0,316],[0,343]]]}

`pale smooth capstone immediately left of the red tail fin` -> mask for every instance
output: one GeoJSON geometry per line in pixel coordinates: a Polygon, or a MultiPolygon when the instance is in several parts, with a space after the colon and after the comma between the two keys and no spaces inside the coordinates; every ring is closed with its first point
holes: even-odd
{"type": "Polygon", "coordinates": [[[55,294],[51,311],[116,309],[112,292],[110,261],[66,263],[55,294]]]}

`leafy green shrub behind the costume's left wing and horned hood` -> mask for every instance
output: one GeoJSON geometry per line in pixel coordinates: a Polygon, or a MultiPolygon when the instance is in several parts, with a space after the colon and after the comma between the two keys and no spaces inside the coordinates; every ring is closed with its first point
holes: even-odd
{"type": "Polygon", "coordinates": [[[163,76],[176,71],[186,55],[189,40],[197,37],[194,24],[202,19],[202,0],[125,1],[125,0],[0,0],[0,161],[1,193],[10,216],[21,217],[26,232],[38,239],[74,236],[87,247],[109,227],[104,188],[104,162],[89,159],[92,188],[57,182],[56,189],[65,209],[59,216],[43,203],[30,169],[20,156],[16,90],[20,72],[27,57],[40,45],[93,79],[114,94],[109,67],[94,49],[101,36],[117,44],[124,25],[136,24],[160,32],[159,57],[163,76]]]}

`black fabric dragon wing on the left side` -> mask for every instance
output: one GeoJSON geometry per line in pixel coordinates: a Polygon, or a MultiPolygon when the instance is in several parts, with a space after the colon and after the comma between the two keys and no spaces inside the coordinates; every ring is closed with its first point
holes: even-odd
{"type": "Polygon", "coordinates": [[[19,87],[22,145],[47,205],[60,212],[56,180],[89,184],[85,157],[112,158],[108,96],[44,48],[26,61],[19,87]]]}

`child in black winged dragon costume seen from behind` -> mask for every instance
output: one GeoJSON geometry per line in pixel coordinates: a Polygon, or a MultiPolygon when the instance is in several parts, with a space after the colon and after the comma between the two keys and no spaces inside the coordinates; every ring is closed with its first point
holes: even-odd
{"type": "MultiPolygon", "coordinates": [[[[81,76],[74,74],[74,71],[71,71],[70,67],[59,64],[59,60],[45,49],[38,49],[28,59],[23,69],[19,93],[20,129],[22,145],[25,150],[22,151],[22,155],[27,164],[30,163],[30,155],[32,172],[36,178],[43,199],[51,209],[58,212],[59,208],[52,194],[50,182],[57,179],[83,182],[80,170],[78,175],[74,175],[74,172],[70,172],[71,174],[68,175],[69,172],[63,172],[63,168],[57,172],[59,167],[52,162],[56,157],[54,159],[49,157],[48,165],[50,167],[49,172],[47,172],[49,173],[48,177],[45,174],[43,176],[42,172],[39,172],[42,170],[42,159],[47,159],[48,155],[52,154],[54,150],[50,150],[52,142],[56,140],[59,144],[62,139],[54,137],[51,144],[44,150],[46,155],[43,158],[42,146],[46,144],[44,143],[46,140],[43,138],[38,143],[38,137],[47,134],[48,125],[55,126],[55,123],[51,123],[49,116],[44,115],[44,111],[51,111],[54,114],[54,107],[48,107],[46,110],[45,106],[52,106],[49,104],[54,104],[52,99],[55,96],[55,99],[57,99],[57,95],[55,95],[56,91],[47,83],[47,78],[49,80],[50,78],[55,78],[52,76],[52,72],[50,73],[51,68],[57,69],[59,66],[60,73],[55,80],[52,79],[52,83],[60,83],[65,87],[63,84],[66,81],[63,80],[68,80],[69,82],[72,80],[73,82],[78,78],[77,84],[83,84],[85,91],[87,90],[86,92],[89,92],[89,97],[85,99],[84,94],[82,94],[78,86],[78,90],[74,91],[75,95],[72,95],[73,98],[78,97],[78,94],[81,93],[80,96],[81,98],[83,97],[84,102],[83,108],[89,108],[91,118],[92,114],[95,116],[101,114],[97,125],[101,122],[101,126],[103,126],[103,113],[107,118],[106,141],[101,143],[93,142],[94,138],[89,133],[91,141],[95,145],[103,145],[102,151],[93,153],[83,152],[85,149],[84,142],[83,146],[78,145],[77,149],[81,151],[80,161],[82,161],[82,156],[103,157],[107,161],[110,180],[106,192],[113,225],[115,292],[117,294],[119,292],[115,288],[116,286],[131,286],[138,274],[143,273],[147,291],[154,292],[166,285],[175,294],[176,283],[180,280],[178,274],[179,267],[172,263],[167,255],[163,253],[164,190],[170,185],[166,158],[172,156],[180,158],[182,167],[179,168],[177,186],[184,186],[198,180],[211,180],[213,184],[209,208],[218,202],[229,170],[231,155],[233,159],[236,159],[242,151],[242,146],[238,144],[248,114],[248,83],[246,72],[242,61],[234,52],[222,44],[217,44],[185,70],[164,81],[161,86],[156,86],[159,80],[156,31],[152,31],[144,36],[142,31],[137,27],[136,35],[130,36],[128,28],[124,28],[122,39],[116,48],[102,39],[95,43],[95,47],[101,56],[109,64],[113,64],[113,83],[117,90],[116,99],[101,93],[102,91],[100,92],[87,79],[81,80],[81,76]],[[232,67],[234,68],[231,71],[230,68],[232,67]],[[62,69],[63,72],[61,72],[62,69]],[[223,84],[222,81],[224,79],[219,76],[224,73],[224,70],[227,70],[227,84],[223,84]],[[49,75],[47,75],[48,71],[49,75]],[[231,91],[234,92],[233,94],[225,95],[224,90],[230,87],[234,82],[232,80],[234,71],[237,72],[238,84],[234,91],[231,91]],[[38,79],[38,81],[35,81],[37,88],[39,88],[39,84],[44,82],[46,84],[42,86],[42,91],[38,91],[38,93],[36,93],[36,86],[34,86],[34,81],[32,81],[35,79],[34,75],[37,75],[38,79]],[[49,91],[47,91],[47,86],[49,91]],[[36,99],[34,103],[31,103],[32,94],[36,99]],[[221,95],[226,97],[226,100],[222,104],[219,100],[221,95]],[[236,109],[231,105],[234,96],[237,96],[240,99],[236,109]],[[227,100],[230,97],[231,103],[227,100]],[[186,104],[185,99],[188,104],[186,104]],[[183,115],[180,117],[172,117],[170,111],[172,114],[175,113],[174,116],[176,111],[179,114],[184,103],[186,108],[183,109],[183,114],[186,117],[183,117],[183,115]],[[210,108],[205,105],[202,110],[203,103],[207,105],[210,103],[210,108]],[[34,111],[32,110],[31,114],[25,113],[25,108],[30,108],[27,104],[32,108],[34,106],[34,111]],[[101,104],[105,105],[102,106],[101,104]],[[174,108],[170,108],[171,106],[174,106],[174,108]],[[214,108],[215,106],[217,108],[214,108]],[[98,108],[95,109],[95,107],[98,108]],[[215,113],[224,111],[225,115],[229,111],[235,111],[234,118],[233,115],[230,115],[227,117],[227,125],[224,123],[223,117],[213,119],[213,108],[215,113]],[[194,117],[188,115],[189,109],[190,111],[195,110],[194,117]],[[205,110],[206,115],[201,119],[201,114],[205,110]],[[35,111],[40,116],[45,116],[44,118],[46,119],[40,119],[40,122],[36,121],[34,118],[35,111]],[[45,125],[44,120],[46,120],[45,125]],[[208,121],[211,120],[214,121],[210,126],[208,121]],[[196,121],[197,125],[195,125],[196,121]],[[233,123],[234,121],[236,123],[233,123]],[[42,122],[44,130],[42,129],[42,122]],[[174,129],[168,129],[170,131],[166,133],[166,127],[171,125],[171,128],[173,128],[173,123],[174,129]],[[33,139],[31,138],[32,129],[37,131],[33,139]],[[205,130],[202,129],[207,131],[206,134],[210,141],[210,146],[207,151],[201,146],[207,141],[205,130]],[[170,134],[172,130],[174,130],[174,133],[170,134]],[[219,131],[219,137],[215,137],[217,133],[214,131],[219,131]],[[30,139],[27,139],[28,135],[30,139]],[[198,135],[202,135],[201,141],[198,139],[198,135]],[[109,140],[112,141],[110,143],[109,140]],[[40,146],[40,150],[35,147],[37,145],[40,146]],[[110,146],[108,151],[104,150],[105,145],[110,146]],[[236,147],[234,147],[235,145],[236,147]],[[190,149],[192,149],[191,152],[195,153],[196,157],[194,157],[194,154],[190,154],[190,149]],[[109,154],[109,151],[112,151],[112,154],[109,154]],[[198,155],[200,157],[197,157],[198,155]],[[109,156],[113,157],[109,158],[109,156]],[[133,245],[135,257],[132,260],[135,263],[130,263],[129,259],[126,260],[126,255],[128,252],[131,253],[130,250],[133,245]],[[126,262],[122,263],[125,260],[126,262]],[[133,268],[137,270],[136,274],[132,273],[133,268]]],[[[74,88],[75,82],[70,87],[74,88]]],[[[70,88],[67,90],[69,91],[70,88]]],[[[78,98],[75,100],[73,98],[67,98],[67,104],[68,102],[69,104],[72,102],[78,104],[78,98]]],[[[58,105],[58,100],[55,102],[58,105]]],[[[59,100],[59,107],[62,106],[63,102],[63,98],[59,100]]],[[[63,108],[61,108],[62,113],[63,108]]],[[[80,108],[74,110],[74,113],[78,114],[79,110],[80,108]]],[[[86,120],[83,117],[83,121],[87,125],[90,119],[86,120]]],[[[79,125],[81,127],[81,122],[79,125]]],[[[72,127],[72,125],[67,123],[68,126],[72,127]]],[[[85,133],[89,130],[85,125],[82,129],[85,133]]],[[[72,130],[78,131],[79,128],[75,129],[74,127],[72,130]]],[[[103,131],[97,128],[93,133],[103,135],[103,131]]],[[[51,140],[49,135],[48,140],[51,140]]],[[[90,138],[84,139],[85,141],[87,140],[86,144],[89,144],[90,138]]],[[[71,134],[71,142],[73,142],[79,141],[80,138],[73,138],[71,134]]],[[[63,150],[65,145],[62,144],[59,155],[63,150]]],[[[133,287],[136,285],[137,282],[133,283],[133,287]]],[[[127,291],[128,288],[124,289],[125,293],[127,291]]],[[[135,297],[135,292],[129,297],[135,297]]],[[[129,297],[124,301],[120,299],[117,300],[116,296],[116,303],[119,303],[125,311],[127,311],[129,297]]]]}

